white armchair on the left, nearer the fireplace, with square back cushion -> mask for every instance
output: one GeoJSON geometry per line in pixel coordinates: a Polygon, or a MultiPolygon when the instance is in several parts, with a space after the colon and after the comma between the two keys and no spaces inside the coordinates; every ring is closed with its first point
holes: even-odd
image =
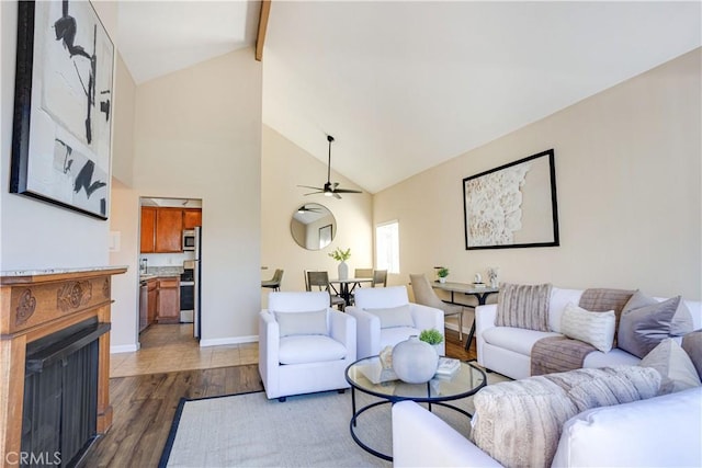
{"type": "Polygon", "coordinates": [[[355,319],[329,307],[329,294],[271,293],[259,315],[259,372],[269,399],[349,388],[355,319]]]}

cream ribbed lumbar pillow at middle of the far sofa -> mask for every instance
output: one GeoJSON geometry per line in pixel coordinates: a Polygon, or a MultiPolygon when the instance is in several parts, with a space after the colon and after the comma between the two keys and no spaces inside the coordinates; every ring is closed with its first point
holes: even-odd
{"type": "Polygon", "coordinates": [[[561,317],[561,332],[609,353],[614,342],[614,310],[591,312],[568,303],[561,317]]]}

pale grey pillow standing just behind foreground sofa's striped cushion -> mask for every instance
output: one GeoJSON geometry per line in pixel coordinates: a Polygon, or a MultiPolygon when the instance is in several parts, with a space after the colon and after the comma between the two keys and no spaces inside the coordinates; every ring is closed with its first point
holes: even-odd
{"type": "Polygon", "coordinates": [[[702,385],[690,356],[688,356],[688,353],[671,338],[667,338],[658,343],[650,353],[641,359],[638,365],[642,367],[653,367],[660,373],[663,377],[660,395],[672,393],[702,385]]]}

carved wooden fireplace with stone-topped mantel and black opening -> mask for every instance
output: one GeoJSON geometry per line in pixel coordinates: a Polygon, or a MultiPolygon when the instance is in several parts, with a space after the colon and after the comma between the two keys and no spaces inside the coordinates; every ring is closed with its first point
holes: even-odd
{"type": "Polygon", "coordinates": [[[75,466],[109,430],[111,275],[125,271],[2,273],[0,465],[75,466]]]}

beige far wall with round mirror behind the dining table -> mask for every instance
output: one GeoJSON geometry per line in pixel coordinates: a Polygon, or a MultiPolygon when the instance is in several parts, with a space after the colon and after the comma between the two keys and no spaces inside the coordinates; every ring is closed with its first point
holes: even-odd
{"type": "MultiPolygon", "coordinates": [[[[319,138],[326,136],[320,133],[319,138]]],[[[324,185],[327,164],[265,125],[261,178],[261,265],[268,266],[261,277],[270,278],[275,269],[283,269],[285,273],[281,289],[304,290],[303,270],[327,270],[331,277],[337,276],[338,262],[328,255],[337,247],[351,248],[351,259],[348,261],[350,272],[355,267],[373,266],[373,210],[369,193],[347,194],[342,195],[342,199],[324,195],[305,196],[310,191],[297,185],[324,185]],[[337,220],[337,236],[322,250],[305,250],[291,236],[291,218],[305,203],[326,206],[337,220]]],[[[361,190],[333,170],[331,180],[339,182],[342,187],[361,190]]],[[[265,305],[268,290],[262,294],[265,305]]]]}

